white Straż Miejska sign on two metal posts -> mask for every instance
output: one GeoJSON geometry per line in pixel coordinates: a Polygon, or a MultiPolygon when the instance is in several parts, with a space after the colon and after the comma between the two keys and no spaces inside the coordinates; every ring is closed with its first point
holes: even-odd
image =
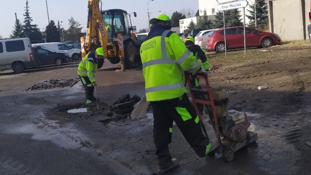
{"type": "MultiPolygon", "coordinates": [[[[245,38],[245,7],[248,5],[247,0],[217,0],[218,11],[223,11],[224,14],[224,35],[225,35],[225,10],[231,10],[236,8],[243,8],[243,28],[244,28],[244,54],[246,54],[246,38],[245,38]]],[[[227,45],[225,36],[225,55],[227,55],[227,45]]]]}

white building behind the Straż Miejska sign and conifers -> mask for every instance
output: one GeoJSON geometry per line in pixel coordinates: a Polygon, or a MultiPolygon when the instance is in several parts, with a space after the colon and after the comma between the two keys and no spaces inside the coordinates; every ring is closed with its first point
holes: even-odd
{"type": "MultiPolygon", "coordinates": [[[[230,0],[218,0],[219,2],[225,2],[230,0]]],[[[217,0],[199,0],[199,13],[200,16],[204,15],[204,10],[207,12],[207,16],[210,15],[216,15],[218,12],[217,6],[218,6],[217,0]]],[[[231,0],[234,1],[234,0],[231,0]]],[[[248,6],[245,8],[245,15],[250,15],[247,9],[250,9],[249,4],[254,4],[255,0],[247,0],[248,6]]],[[[240,8],[240,15],[242,15],[241,20],[243,21],[243,8],[240,8]]],[[[245,16],[245,24],[247,25],[249,23],[249,19],[245,16]]]]}

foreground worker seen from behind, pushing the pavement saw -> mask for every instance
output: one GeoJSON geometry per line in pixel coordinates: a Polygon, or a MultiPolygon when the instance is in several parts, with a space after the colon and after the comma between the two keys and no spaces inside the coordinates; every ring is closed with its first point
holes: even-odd
{"type": "Polygon", "coordinates": [[[172,22],[164,14],[150,20],[152,29],[140,47],[145,78],[146,99],[154,115],[154,142],[159,173],[178,166],[168,144],[172,139],[173,121],[200,157],[215,147],[203,135],[199,117],[190,103],[185,88],[184,69],[205,71],[201,63],[185,46],[179,35],[172,32],[172,22]]]}

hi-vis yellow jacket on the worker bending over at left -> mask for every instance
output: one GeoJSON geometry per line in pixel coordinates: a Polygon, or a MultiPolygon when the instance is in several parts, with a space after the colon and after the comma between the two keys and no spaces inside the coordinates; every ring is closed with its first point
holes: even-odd
{"type": "Polygon", "coordinates": [[[87,76],[88,79],[94,83],[94,73],[98,69],[97,66],[97,58],[95,57],[95,52],[91,51],[86,54],[84,58],[82,58],[82,61],[79,64],[78,67],[78,75],[80,76],[87,76]]]}

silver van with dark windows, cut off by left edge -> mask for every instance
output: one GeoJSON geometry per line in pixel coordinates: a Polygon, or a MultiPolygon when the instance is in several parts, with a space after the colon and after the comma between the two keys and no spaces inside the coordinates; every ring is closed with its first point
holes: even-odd
{"type": "Polygon", "coordinates": [[[20,73],[34,64],[29,38],[0,39],[0,70],[20,73]]]}

